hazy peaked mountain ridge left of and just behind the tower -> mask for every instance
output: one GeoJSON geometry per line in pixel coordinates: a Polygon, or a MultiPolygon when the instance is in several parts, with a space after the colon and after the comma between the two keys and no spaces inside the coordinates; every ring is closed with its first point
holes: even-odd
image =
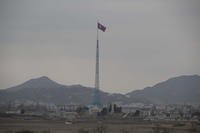
{"type": "MultiPolygon", "coordinates": [[[[90,104],[93,99],[94,88],[81,85],[65,86],[58,84],[48,77],[40,77],[27,82],[0,90],[0,102],[10,101],[33,101],[56,104],[90,104]]],[[[103,103],[124,101],[126,97],[122,94],[109,94],[100,91],[103,103]]]]}

